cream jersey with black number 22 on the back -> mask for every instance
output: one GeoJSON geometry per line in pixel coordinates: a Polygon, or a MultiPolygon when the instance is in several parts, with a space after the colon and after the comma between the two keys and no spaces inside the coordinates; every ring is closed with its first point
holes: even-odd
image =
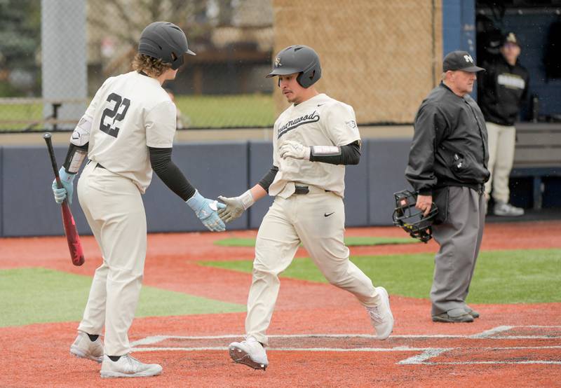
{"type": "Polygon", "coordinates": [[[88,158],[131,179],[144,193],[152,179],[148,147],[171,148],[176,108],[160,83],[131,71],[108,78],[95,93],[88,158]]]}

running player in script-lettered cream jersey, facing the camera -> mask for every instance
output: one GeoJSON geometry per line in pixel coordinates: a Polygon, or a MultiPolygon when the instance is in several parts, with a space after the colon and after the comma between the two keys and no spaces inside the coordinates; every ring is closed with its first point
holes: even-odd
{"type": "Polygon", "coordinates": [[[264,347],[279,290],[278,274],[292,262],[302,242],[326,279],[355,295],[370,315],[379,340],[393,330],[386,289],[349,261],[344,244],[345,165],[360,160],[360,134],[353,108],[319,94],[317,53],[307,46],[280,51],[268,77],[292,105],[273,127],[273,167],[257,185],[234,198],[219,196],[226,222],[243,214],[267,191],[275,199],[257,233],[245,340],[229,345],[231,358],[255,369],[269,364],[264,347]]]}

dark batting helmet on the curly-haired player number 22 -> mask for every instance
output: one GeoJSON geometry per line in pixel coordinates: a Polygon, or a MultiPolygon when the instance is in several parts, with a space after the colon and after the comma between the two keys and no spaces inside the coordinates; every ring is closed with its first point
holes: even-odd
{"type": "Polygon", "coordinates": [[[138,52],[170,63],[179,69],[184,55],[196,55],[189,50],[187,36],[180,27],[170,22],[154,22],[144,28],[138,42],[138,52]]]}

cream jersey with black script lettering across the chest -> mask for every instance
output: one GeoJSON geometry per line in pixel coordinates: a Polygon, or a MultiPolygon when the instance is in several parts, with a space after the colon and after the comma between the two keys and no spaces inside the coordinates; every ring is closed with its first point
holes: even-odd
{"type": "Polygon", "coordinates": [[[345,166],[280,158],[278,148],[284,141],[304,146],[344,146],[360,141],[352,106],[320,94],[280,114],[273,127],[273,165],[278,172],[269,186],[269,195],[292,194],[289,182],[307,183],[344,196],[345,166]],[[285,186],[290,192],[286,192],[285,186]]]}

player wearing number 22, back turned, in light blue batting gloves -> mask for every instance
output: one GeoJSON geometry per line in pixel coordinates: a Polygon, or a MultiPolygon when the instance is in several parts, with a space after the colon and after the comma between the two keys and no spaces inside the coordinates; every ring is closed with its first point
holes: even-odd
{"type": "MultiPolygon", "coordinates": [[[[72,198],[73,180],[86,154],[78,198],[103,263],[95,270],[88,304],[70,347],[75,356],[102,363],[101,377],[159,375],[161,366],[130,356],[128,329],[140,296],[147,226],[141,195],[152,171],[194,210],[210,230],[224,230],[217,201],[198,193],[172,162],[175,105],[162,88],[189,50],[184,32],[154,22],[140,36],[135,71],[108,78],[97,90],[70,139],[55,200],[72,198]],[[100,340],[105,326],[104,345],[100,340]]],[[[54,183],[53,183],[54,185],[54,183]]]]}

